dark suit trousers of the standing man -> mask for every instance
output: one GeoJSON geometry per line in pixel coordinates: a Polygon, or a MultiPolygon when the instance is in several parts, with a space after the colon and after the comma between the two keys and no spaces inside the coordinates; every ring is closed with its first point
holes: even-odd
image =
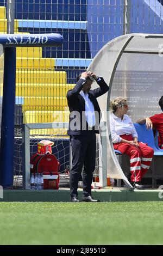
{"type": "Polygon", "coordinates": [[[78,196],[78,181],[81,173],[83,179],[83,195],[89,196],[91,194],[91,184],[95,170],[96,134],[94,131],[84,131],[82,135],[71,135],[70,141],[72,148],[72,169],[70,170],[71,197],[78,196]]]}

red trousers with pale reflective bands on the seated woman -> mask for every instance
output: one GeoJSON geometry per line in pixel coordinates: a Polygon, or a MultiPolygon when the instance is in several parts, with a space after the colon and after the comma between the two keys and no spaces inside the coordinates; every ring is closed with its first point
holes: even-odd
{"type": "MultiPolygon", "coordinates": [[[[127,141],[133,141],[131,135],[120,136],[127,141]]],[[[152,162],[154,150],[147,146],[146,143],[139,142],[139,147],[135,147],[128,143],[114,143],[114,149],[120,150],[122,154],[130,157],[131,181],[141,181],[152,162]]]]}

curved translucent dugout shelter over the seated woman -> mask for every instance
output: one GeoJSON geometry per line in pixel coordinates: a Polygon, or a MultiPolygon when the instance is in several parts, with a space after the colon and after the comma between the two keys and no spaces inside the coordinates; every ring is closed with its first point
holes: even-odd
{"type": "MultiPolygon", "coordinates": [[[[104,77],[110,90],[98,98],[106,121],[107,171],[110,177],[123,179],[124,175],[112,146],[109,122],[110,100],[127,97],[128,114],[133,123],[142,117],[160,113],[158,100],[163,81],[163,34],[127,34],[106,44],[97,53],[89,70],[104,77]]],[[[95,87],[96,85],[94,85],[95,87]]]]}

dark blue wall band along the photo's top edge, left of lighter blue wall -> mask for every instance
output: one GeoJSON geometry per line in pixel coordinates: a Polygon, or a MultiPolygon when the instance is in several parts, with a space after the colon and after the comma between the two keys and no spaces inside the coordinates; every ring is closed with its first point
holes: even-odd
{"type": "Polygon", "coordinates": [[[86,0],[15,0],[15,10],[16,19],[86,20],[86,0]]]}

